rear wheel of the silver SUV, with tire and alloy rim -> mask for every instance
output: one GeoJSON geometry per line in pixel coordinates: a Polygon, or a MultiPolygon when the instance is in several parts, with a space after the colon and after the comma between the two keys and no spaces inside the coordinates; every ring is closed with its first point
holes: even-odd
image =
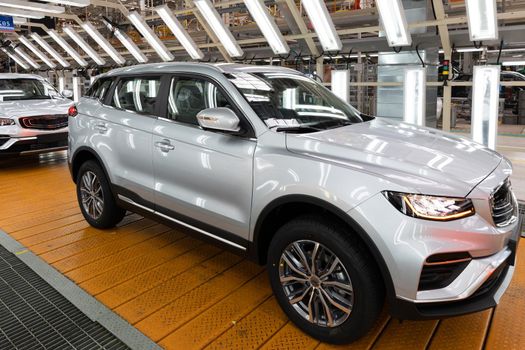
{"type": "Polygon", "coordinates": [[[104,171],[93,160],[80,166],[77,175],[77,200],[86,221],[96,228],[115,227],[126,214],[126,210],[117,205],[104,171]]]}

